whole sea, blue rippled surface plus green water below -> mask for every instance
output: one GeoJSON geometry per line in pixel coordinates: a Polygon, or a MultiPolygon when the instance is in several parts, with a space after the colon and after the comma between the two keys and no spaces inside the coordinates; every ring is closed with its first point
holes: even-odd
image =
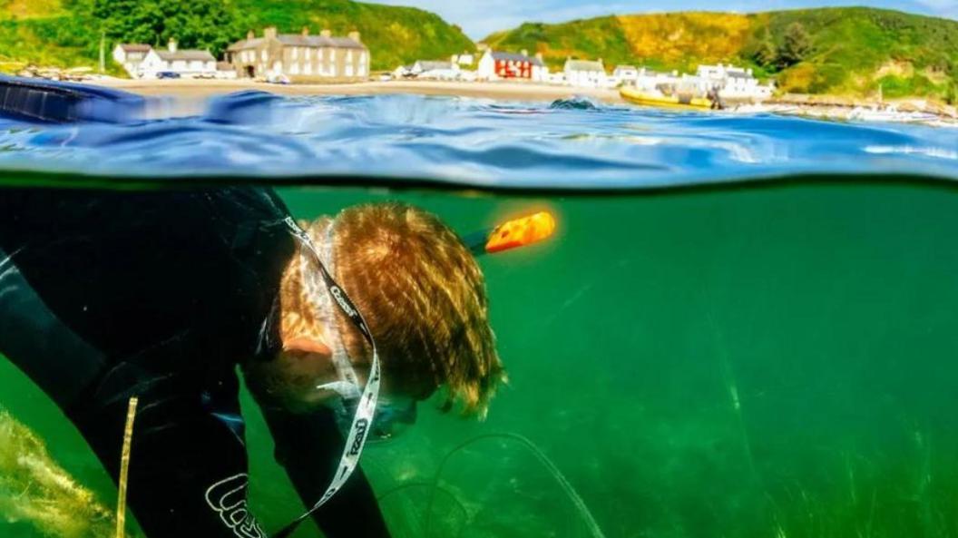
{"type": "MultiPolygon", "coordinates": [[[[367,448],[394,537],[958,537],[958,129],[580,98],[177,110],[0,120],[0,185],[262,185],[297,218],[399,200],[463,234],[555,215],[549,240],[480,260],[509,372],[488,417],[427,401],[367,448]]],[[[304,506],[241,403],[250,506],[278,529],[304,506]]],[[[82,437],[2,357],[0,408],[0,439],[42,456],[28,473],[0,446],[0,536],[74,528],[47,521],[70,492],[37,493],[63,487],[37,465],[115,510],[82,437]]]]}

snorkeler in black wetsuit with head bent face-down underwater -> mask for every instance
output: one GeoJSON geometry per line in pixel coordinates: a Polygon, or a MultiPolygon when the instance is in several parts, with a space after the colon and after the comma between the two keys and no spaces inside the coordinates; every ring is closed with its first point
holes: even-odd
{"type": "Polygon", "coordinates": [[[266,536],[238,367],[331,538],[388,536],[350,475],[367,437],[397,435],[439,390],[482,415],[504,376],[482,272],[436,216],[364,205],[300,226],[252,188],[0,195],[0,353],[114,481],[138,397],[128,499],[149,538],[266,536]]]}

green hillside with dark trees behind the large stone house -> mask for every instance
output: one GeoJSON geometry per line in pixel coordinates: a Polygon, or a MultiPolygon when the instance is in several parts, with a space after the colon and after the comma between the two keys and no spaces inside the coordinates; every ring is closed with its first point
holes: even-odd
{"type": "MultiPolygon", "coordinates": [[[[118,42],[165,44],[219,54],[248,30],[334,34],[358,30],[374,70],[474,50],[458,27],[428,11],[360,4],[352,0],[0,0],[0,71],[24,63],[94,66],[101,35],[118,42]]],[[[112,70],[117,72],[116,67],[112,70]]]]}

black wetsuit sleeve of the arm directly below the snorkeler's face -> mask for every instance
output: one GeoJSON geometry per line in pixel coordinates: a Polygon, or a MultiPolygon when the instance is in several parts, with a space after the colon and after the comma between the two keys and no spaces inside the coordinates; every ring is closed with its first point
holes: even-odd
{"type": "MultiPolygon", "coordinates": [[[[262,406],[262,411],[276,442],[276,460],[303,503],[311,506],[330,484],[343,446],[331,412],[300,415],[269,406],[262,406]]],[[[329,538],[389,537],[376,495],[361,469],[313,519],[329,538]]]]}

